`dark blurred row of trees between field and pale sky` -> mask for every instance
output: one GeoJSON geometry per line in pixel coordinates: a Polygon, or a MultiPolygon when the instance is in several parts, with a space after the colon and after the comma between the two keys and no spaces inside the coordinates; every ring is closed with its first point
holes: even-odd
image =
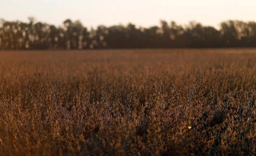
{"type": "Polygon", "coordinates": [[[256,47],[256,23],[229,20],[220,29],[190,22],[181,26],[160,21],[149,28],[98,26],[86,28],[67,19],[59,27],[36,22],[0,19],[0,49],[103,49],[103,48],[221,48],[256,47]]]}

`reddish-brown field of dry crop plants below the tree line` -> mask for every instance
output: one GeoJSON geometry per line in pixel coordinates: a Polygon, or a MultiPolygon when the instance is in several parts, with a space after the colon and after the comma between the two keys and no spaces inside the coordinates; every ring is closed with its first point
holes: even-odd
{"type": "Polygon", "coordinates": [[[254,155],[256,49],[0,52],[1,155],[254,155]]]}

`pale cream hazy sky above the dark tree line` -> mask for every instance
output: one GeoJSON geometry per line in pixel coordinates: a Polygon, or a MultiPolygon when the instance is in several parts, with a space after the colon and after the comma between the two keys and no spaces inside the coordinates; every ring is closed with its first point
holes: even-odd
{"type": "Polygon", "coordinates": [[[160,19],[217,27],[228,19],[256,21],[256,0],[0,0],[0,19],[27,21],[28,16],[56,26],[70,18],[86,27],[129,22],[149,27],[160,19]]]}

